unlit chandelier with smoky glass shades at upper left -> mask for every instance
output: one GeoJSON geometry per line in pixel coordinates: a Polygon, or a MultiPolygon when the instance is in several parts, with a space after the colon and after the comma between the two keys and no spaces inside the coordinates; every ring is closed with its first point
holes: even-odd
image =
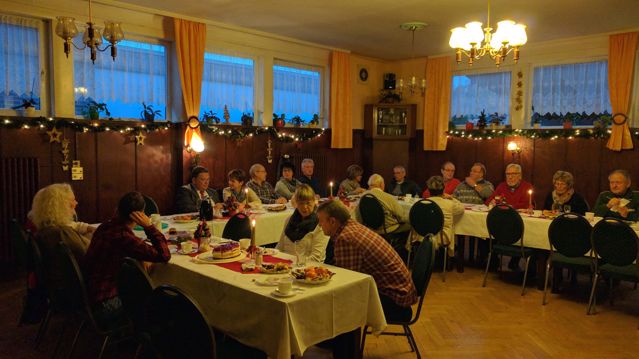
{"type": "Polygon", "coordinates": [[[89,22],[87,22],[87,26],[84,26],[84,36],[82,36],[82,42],[84,43],[84,47],[80,48],[73,43],[71,40],[75,38],[78,34],[78,29],[75,27],[75,19],[73,17],[59,16],[58,23],[56,24],[56,34],[60,36],[63,40],[65,40],[65,54],[66,58],[69,57],[71,52],[71,45],[78,50],[84,50],[87,47],[91,49],[91,61],[95,64],[96,59],[96,50],[100,52],[105,51],[111,47],[111,57],[113,57],[113,61],[116,61],[116,56],[118,56],[118,49],[116,49],[116,43],[124,40],[124,33],[120,27],[120,23],[116,21],[105,21],[104,22],[104,33],[100,34],[99,27],[93,27],[95,23],[91,20],[91,0],[89,0],[89,22]],[[104,49],[100,49],[100,45],[102,45],[102,37],[104,36],[104,40],[111,43],[111,45],[105,47],[104,49]]]}

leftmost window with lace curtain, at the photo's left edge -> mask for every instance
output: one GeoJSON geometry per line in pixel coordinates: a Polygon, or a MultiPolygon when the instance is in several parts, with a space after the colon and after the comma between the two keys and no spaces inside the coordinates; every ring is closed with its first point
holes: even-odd
{"type": "Polygon", "coordinates": [[[40,110],[42,28],[40,20],[0,15],[0,109],[33,98],[40,110]]]}

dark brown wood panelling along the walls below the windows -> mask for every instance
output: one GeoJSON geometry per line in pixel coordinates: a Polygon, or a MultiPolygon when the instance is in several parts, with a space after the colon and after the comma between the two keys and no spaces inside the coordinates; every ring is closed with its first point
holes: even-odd
{"type": "MultiPolygon", "coordinates": [[[[48,130],[48,129],[47,129],[48,130]]],[[[61,144],[49,142],[49,135],[37,128],[10,130],[0,128],[2,141],[0,157],[38,157],[40,162],[40,185],[71,182],[76,198],[77,211],[84,222],[96,223],[108,220],[117,206],[119,197],[125,192],[137,190],[155,199],[161,213],[173,213],[176,189],[190,182],[192,155],[183,149],[183,126],[171,126],[169,130],[146,133],[143,146],[135,145],[132,134],[119,132],[93,133],[65,132],[62,137],[71,140],[70,159],[81,161],[84,179],[70,181],[70,172],[62,171],[61,144]]],[[[296,130],[286,128],[293,133],[296,130]]],[[[304,130],[297,130],[304,131],[304,130]]],[[[295,143],[285,143],[270,134],[260,134],[242,141],[221,135],[204,133],[206,150],[201,154],[201,165],[210,169],[210,187],[227,187],[226,174],[240,168],[248,172],[250,165],[263,164],[268,172],[267,180],[273,185],[279,178],[277,164],[284,154],[325,153],[328,155],[327,179],[339,183],[346,177],[346,168],[351,164],[364,167],[362,183],[372,174],[373,163],[383,162],[389,172],[380,173],[387,181],[392,179],[392,167],[404,165],[411,178],[424,188],[426,180],[440,174],[445,161],[453,162],[455,177],[463,180],[475,162],[486,165],[486,179],[494,185],[504,181],[506,165],[514,162],[505,146],[516,141],[523,150],[520,165],[523,178],[535,185],[535,200],[543,204],[546,194],[552,189],[551,179],[558,170],[573,173],[575,190],[582,194],[590,206],[597,194],[608,189],[608,173],[615,169],[626,169],[633,179],[639,181],[639,158],[637,150],[613,152],[606,149],[606,141],[596,139],[531,140],[519,137],[472,140],[450,138],[446,151],[423,151],[423,132],[408,143],[408,163],[397,163],[397,155],[387,151],[373,158],[373,142],[364,139],[363,130],[353,132],[352,149],[331,149],[330,131],[312,141],[303,142],[298,149],[295,143]],[[268,164],[267,141],[272,140],[273,162],[268,164]]],[[[635,141],[635,147],[638,146],[635,141]]],[[[326,184],[323,184],[326,186],[326,184]]],[[[365,185],[366,186],[366,185],[365,185]]]]}

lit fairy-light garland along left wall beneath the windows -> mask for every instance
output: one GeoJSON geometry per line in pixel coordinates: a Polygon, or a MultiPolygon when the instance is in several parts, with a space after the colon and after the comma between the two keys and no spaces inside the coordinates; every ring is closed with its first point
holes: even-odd
{"type": "MultiPolygon", "coordinates": [[[[120,132],[132,133],[139,131],[151,132],[155,130],[168,130],[171,126],[181,125],[181,123],[171,122],[149,122],[149,123],[109,123],[107,121],[88,121],[85,119],[68,119],[68,118],[3,118],[0,119],[0,126],[12,129],[29,129],[39,128],[40,130],[48,130],[49,128],[70,128],[79,132],[120,132]]],[[[254,135],[270,132],[275,138],[282,142],[304,142],[312,140],[324,134],[325,128],[312,128],[311,131],[302,133],[278,132],[278,128],[272,126],[263,126],[257,128],[238,128],[238,127],[221,127],[219,125],[208,125],[203,123],[200,125],[203,132],[215,135],[223,135],[232,139],[245,139],[254,135]]]]}

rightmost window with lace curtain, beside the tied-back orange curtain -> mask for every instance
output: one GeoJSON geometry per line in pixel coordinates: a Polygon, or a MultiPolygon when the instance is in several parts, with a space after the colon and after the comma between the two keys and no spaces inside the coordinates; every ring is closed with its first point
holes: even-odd
{"type": "Polygon", "coordinates": [[[575,125],[592,125],[596,116],[612,112],[608,61],[535,67],[532,105],[543,126],[561,126],[566,116],[574,116],[575,125]]]}

